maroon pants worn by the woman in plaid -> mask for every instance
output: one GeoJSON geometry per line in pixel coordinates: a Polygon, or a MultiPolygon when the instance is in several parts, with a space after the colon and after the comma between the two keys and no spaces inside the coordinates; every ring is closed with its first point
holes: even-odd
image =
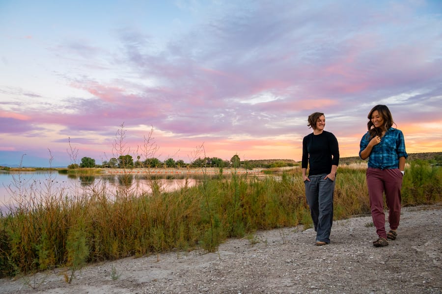
{"type": "Polygon", "coordinates": [[[370,198],[371,216],[379,237],[387,238],[385,230],[384,197],[388,207],[388,222],[391,230],[399,226],[401,216],[402,173],[394,169],[367,169],[367,187],[370,198]]]}

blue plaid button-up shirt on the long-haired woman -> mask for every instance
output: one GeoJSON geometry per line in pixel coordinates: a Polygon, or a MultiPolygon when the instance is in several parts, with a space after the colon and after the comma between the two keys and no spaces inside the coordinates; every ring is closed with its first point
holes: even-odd
{"type": "MultiPolygon", "coordinates": [[[[360,153],[367,147],[370,142],[368,132],[360,139],[360,153]]],[[[408,157],[405,151],[405,140],[402,131],[389,128],[382,137],[381,142],[374,146],[368,158],[368,167],[380,169],[398,168],[399,158],[408,157]]]]}

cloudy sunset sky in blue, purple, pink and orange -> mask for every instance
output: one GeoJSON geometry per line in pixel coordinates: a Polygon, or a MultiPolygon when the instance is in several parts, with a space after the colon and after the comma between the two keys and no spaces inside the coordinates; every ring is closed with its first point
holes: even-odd
{"type": "Polygon", "coordinates": [[[0,44],[0,165],[301,160],[315,111],[358,156],[377,104],[442,151],[440,0],[0,0],[0,44]]]}

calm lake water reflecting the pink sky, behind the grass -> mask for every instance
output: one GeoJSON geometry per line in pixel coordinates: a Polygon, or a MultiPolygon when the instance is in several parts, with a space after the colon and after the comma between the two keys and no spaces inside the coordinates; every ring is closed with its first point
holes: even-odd
{"type": "MultiPolygon", "coordinates": [[[[184,187],[185,179],[159,178],[155,182],[161,191],[184,187]]],[[[196,180],[189,179],[193,186],[196,180]]],[[[117,195],[140,195],[151,192],[151,181],[137,175],[67,175],[58,172],[0,172],[0,210],[14,206],[20,197],[42,198],[48,195],[88,196],[104,193],[109,199],[117,195]]]]}

